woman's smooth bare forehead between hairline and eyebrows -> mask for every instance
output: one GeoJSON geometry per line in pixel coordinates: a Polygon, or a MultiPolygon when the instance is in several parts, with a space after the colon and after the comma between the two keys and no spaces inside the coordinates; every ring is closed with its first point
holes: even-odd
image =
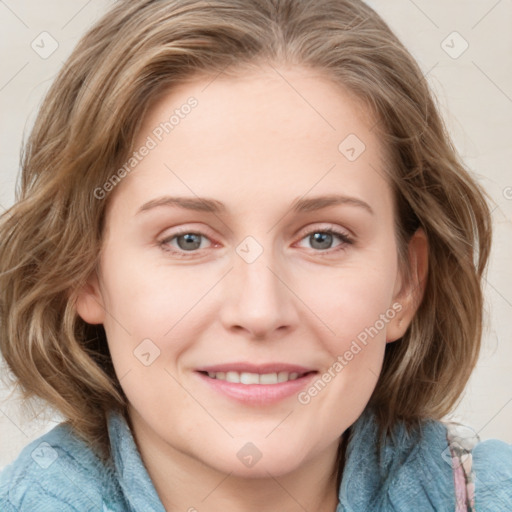
{"type": "Polygon", "coordinates": [[[147,112],[133,151],[151,148],[116,195],[128,194],[132,204],[156,192],[229,195],[240,206],[247,195],[275,203],[310,191],[371,201],[386,187],[375,121],[362,101],[318,71],[198,76],[147,112]]]}

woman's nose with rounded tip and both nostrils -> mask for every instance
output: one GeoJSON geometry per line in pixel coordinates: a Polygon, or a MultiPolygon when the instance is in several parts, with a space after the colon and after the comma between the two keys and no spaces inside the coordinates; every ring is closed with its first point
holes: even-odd
{"type": "Polygon", "coordinates": [[[296,327],[297,299],[287,282],[289,273],[283,270],[284,263],[266,248],[252,262],[234,254],[233,270],[224,283],[221,310],[221,321],[227,330],[267,339],[296,327]]]}

